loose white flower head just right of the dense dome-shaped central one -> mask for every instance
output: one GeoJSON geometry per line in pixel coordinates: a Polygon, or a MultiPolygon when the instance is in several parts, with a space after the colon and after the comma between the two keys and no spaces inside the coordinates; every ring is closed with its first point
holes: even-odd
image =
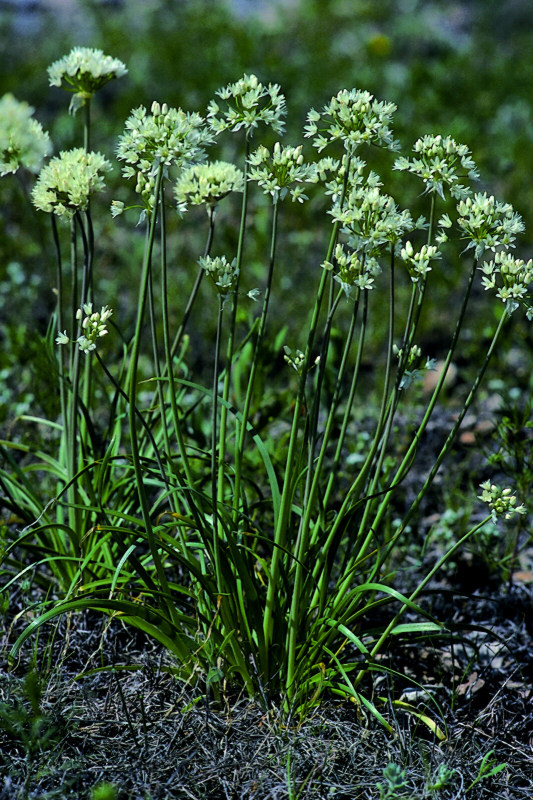
{"type": "Polygon", "coordinates": [[[257,181],[267,194],[272,195],[274,203],[289,193],[293,202],[303,203],[308,199],[307,195],[301,186],[294,184],[317,181],[315,165],[304,163],[302,145],[282,147],[276,142],[272,155],[261,145],[251,154],[248,163],[251,166],[249,180],[257,181]]]}

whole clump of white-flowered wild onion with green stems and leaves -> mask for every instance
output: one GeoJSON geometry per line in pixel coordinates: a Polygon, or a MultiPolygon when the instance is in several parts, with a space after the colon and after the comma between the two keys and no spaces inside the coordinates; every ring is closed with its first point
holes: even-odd
{"type": "MultiPolygon", "coordinates": [[[[90,150],[89,101],[125,71],[85,48],[50,68],[52,85],[75,92],[71,110],[84,109],[84,135],[83,147],[43,167],[33,190],[35,206],[50,214],[57,254],[47,348],[61,414],[38,421],[57,437],[54,452],[32,453],[18,441],[1,445],[5,502],[24,522],[5,557],[12,568],[20,564],[11,582],[37,568],[36,580],[53,587],[12,656],[55,616],[99,609],[155,637],[175,656],[176,675],[215,695],[244,686],[266,705],[281,700],[290,714],[305,713],[329,692],[352,698],[385,723],[362,685],[383,669],[383,648],[400,635],[438,633],[439,623],[416,603],[424,587],[487,521],[525,513],[510,489],[483,484],[488,515],[411,594],[395,587],[391,554],[453,447],[504,326],[520,307],[532,316],[533,263],[513,255],[522,220],[507,203],[473,192],[478,175],[470,150],[440,135],[424,136],[412,155],[391,161],[406,180],[422,181],[428,218],[414,219],[363,160],[365,148],[399,149],[395,105],[365,91],[340,91],[321,111],[309,112],[304,137],[318,154],[331,155],[313,158],[302,144],[257,144],[265,129],[282,134],[285,99],[279,86],[245,75],[217,92],[205,117],[154,102],[126,121],[116,158],[137,200],[114,201],[111,211],[127,226],[131,209],[140,210],[145,246],[142,264],[131,266],[131,280],[139,282],[134,332],[121,338],[120,297],[100,297],[92,215],[104,213],[98,194],[110,162],[90,150]],[[207,160],[220,137],[235,137],[240,163],[207,160]],[[261,192],[270,201],[270,246],[261,289],[245,292],[250,204],[261,192]],[[215,255],[218,209],[231,193],[241,198],[235,250],[215,255]],[[260,424],[274,278],[289,269],[280,226],[289,203],[302,209],[311,196],[326,206],[328,241],[321,255],[306,254],[316,287],[307,327],[290,346],[279,343],[280,380],[290,401],[260,424]],[[192,293],[188,299],[178,293],[176,309],[167,219],[183,216],[186,236],[193,205],[207,211],[206,243],[192,293]],[[433,366],[417,344],[426,290],[454,248],[465,264],[464,292],[448,353],[408,443],[397,447],[395,420],[412,402],[410,387],[433,366]],[[457,420],[391,533],[387,517],[437,407],[476,279],[501,301],[499,322],[457,420]],[[216,330],[207,383],[197,377],[187,336],[204,296],[202,281],[212,287],[202,314],[216,330]],[[243,335],[243,309],[252,316],[254,307],[243,335]],[[383,363],[375,367],[380,396],[366,452],[357,468],[347,468],[356,412],[368,399],[361,365],[373,316],[387,327],[383,363]],[[343,318],[339,350],[332,330],[343,318]],[[36,472],[47,498],[35,487],[36,472]],[[383,608],[387,621],[376,623],[383,608]],[[420,621],[402,622],[407,610],[420,621]]],[[[0,133],[3,158],[23,167],[16,119],[13,131],[9,118],[0,125],[8,131],[0,133]]],[[[44,157],[44,140],[42,151],[44,157]]]]}

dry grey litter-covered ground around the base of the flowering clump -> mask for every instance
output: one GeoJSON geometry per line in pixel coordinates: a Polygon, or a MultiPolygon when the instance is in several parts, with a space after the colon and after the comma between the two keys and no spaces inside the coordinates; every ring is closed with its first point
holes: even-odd
{"type": "Polygon", "coordinates": [[[426,605],[449,633],[432,643],[396,643],[383,656],[394,680],[384,673],[367,687],[392,735],[333,699],[289,725],[277,708],[266,712],[231,693],[215,705],[172,677],[159,646],[92,613],[41,634],[34,651],[46,668],[39,699],[27,678],[31,652],[8,669],[8,631],[0,661],[0,800],[82,800],[106,782],[120,800],[530,800],[531,587],[467,595],[442,582],[426,605]],[[404,771],[394,791],[383,775],[391,764],[404,771]],[[483,764],[486,773],[505,766],[484,776],[483,764]]]}

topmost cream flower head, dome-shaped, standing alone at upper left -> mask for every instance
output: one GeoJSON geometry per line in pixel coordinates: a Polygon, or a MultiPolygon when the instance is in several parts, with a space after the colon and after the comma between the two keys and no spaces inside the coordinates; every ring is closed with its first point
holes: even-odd
{"type": "Polygon", "coordinates": [[[101,50],[74,47],[48,67],[48,77],[50,86],[62,86],[75,93],[70,104],[70,111],[75,113],[98,89],[127,71],[122,61],[104,55],[101,50]]]}

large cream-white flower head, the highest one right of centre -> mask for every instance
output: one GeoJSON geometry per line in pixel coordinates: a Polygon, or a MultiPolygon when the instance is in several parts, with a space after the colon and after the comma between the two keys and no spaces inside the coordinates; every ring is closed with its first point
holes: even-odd
{"type": "Polygon", "coordinates": [[[340,141],[353,154],[361,144],[373,144],[397,150],[389,127],[396,106],[376,100],[370,92],[343,89],[324,106],[322,112],[311,109],[304,135],[313,137],[320,153],[329,142],[340,141]]]}

